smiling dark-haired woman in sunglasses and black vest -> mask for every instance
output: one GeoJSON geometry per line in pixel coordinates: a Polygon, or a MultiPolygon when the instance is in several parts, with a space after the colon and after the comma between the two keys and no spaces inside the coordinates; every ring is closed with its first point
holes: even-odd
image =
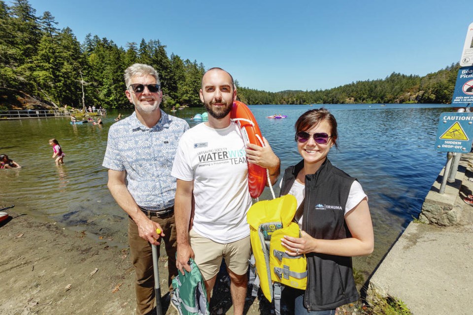
{"type": "Polygon", "coordinates": [[[296,215],[301,237],[284,236],[281,242],[288,255],[305,254],[307,287],[286,287],[281,302],[295,315],[335,314],[338,306],[359,298],[351,256],[373,251],[368,197],[355,178],[327,158],[338,139],[337,121],[327,109],[305,112],[295,129],[303,159],[285,170],[280,194],[296,196],[303,209],[302,217],[296,215]]]}

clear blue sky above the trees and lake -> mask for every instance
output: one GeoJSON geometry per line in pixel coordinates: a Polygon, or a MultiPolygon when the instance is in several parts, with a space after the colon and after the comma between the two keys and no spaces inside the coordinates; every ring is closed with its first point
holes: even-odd
{"type": "MultiPolygon", "coordinates": [[[[8,4],[9,1],[6,1],[8,4]]],[[[30,0],[80,42],[159,39],[183,60],[265,91],[328,89],[425,75],[457,63],[473,22],[459,0],[30,0]]]]}

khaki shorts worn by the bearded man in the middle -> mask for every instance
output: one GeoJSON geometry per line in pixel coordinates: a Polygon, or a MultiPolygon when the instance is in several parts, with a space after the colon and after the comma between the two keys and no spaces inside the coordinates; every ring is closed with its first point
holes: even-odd
{"type": "Polygon", "coordinates": [[[225,263],[236,275],[244,275],[248,270],[248,259],[251,255],[250,237],[241,240],[221,244],[216,243],[192,229],[189,232],[191,247],[194,251],[196,264],[205,281],[215,277],[220,270],[222,257],[225,263]]]}

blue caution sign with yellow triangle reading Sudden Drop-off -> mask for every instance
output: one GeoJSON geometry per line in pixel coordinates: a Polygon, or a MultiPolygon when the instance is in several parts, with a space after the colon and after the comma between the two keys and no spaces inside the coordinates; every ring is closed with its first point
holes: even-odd
{"type": "Polygon", "coordinates": [[[472,149],[473,113],[442,113],[435,147],[440,152],[468,153],[472,149]]]}

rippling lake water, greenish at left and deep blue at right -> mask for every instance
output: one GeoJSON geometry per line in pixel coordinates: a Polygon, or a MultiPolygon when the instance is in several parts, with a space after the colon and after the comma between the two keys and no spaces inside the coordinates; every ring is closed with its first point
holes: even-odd
{"type": "MultiPolygon", "coordinates": [[[[282,169],[300,160],[294,141],[297,118],[318,106],[250,106],[263,135],[281,159],[282,169]],[[273,114],[287,118],[266,118],[273,114]]],[[[445,163],[445,154],[434,148],[439,115],[452,109],[436,104],[325,106],[336,117],[339,133],[339,150],[333,148],[329,158],[358,178],[369,196],[375,251],[355,259],[355,267],[369,274],[412,217],[420,213],[445,163]]],[[[190,118],[203,112],[203,108],[189,108],[174,114],[192,127],[197,122],[190,118]]],[[[131,111],[121,113],[128,116],[131,111]]],[[[0,121],[0,154],[23,166],[0,171],[0,206],[15,204],[15,212],[57,221],[125,247],[126,215],[111,197],[106,187],[107,171],[101,166],[108,128],[117,115],[110,111],[103,126],[70,125],[68,118],[0,121]],[[53,137],[66,153],[66,164],[60,167],[51,158],[48,139],[53,137]]],[[[260,197],[270,198],[269,189],[260,197]]]]}

